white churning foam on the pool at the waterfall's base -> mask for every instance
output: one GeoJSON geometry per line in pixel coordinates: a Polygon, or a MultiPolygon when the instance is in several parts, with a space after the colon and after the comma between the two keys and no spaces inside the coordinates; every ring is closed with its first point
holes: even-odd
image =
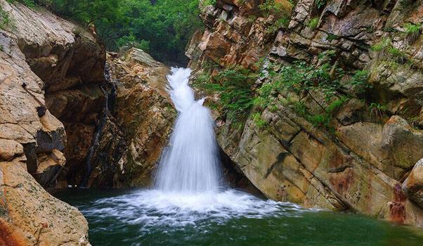
{"type": "Polygon", "coordinates": [[[292,203],[261,200],[238,190],[197,194],[138,190],[96,200],[82,208],[86,216],[115,218],[124,224],[141,225],[146,231],[157,226],[195,226],[206,220],[210,224],[240,217],[301,216],[305,211],[310,210],[292,203]]]}

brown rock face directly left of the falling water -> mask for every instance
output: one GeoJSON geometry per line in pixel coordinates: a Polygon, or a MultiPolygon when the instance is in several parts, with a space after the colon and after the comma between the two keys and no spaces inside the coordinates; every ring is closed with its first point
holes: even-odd
{"type": "Polygon", "coordinates": [[[108,67],[116,82],[112,114],[125,136],[113,186],[149,186],[176,117],[166,90],[170,70],[136,48],[109,56],[108,67]]]}

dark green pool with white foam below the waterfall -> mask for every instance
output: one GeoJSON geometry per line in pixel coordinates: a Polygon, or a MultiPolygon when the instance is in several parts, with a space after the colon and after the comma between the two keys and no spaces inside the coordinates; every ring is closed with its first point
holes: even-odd
{"type": "Polygon", "coordinates": [[[234,190],[195,197],[157,190],[66,190],[56,196],[86,216],[94,246],[423,245],[419,229],[234,190]]]}

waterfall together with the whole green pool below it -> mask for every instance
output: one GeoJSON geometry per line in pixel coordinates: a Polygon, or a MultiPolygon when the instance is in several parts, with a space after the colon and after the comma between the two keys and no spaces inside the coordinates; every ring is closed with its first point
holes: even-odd
{"type": "Polygon", "coordinates": [[[375,225],[367,217],[315,213],[219,188],[214,122],[203,100],[194,100],[188,86],[190,70],[171,72],[169,92],[178,119],[155,187],[89,202],[84,202],[86,194],[72,195],[89,221],[93,245],[391,245],[401,237],[416,243],[399,245],[421,245],[414,234],[391,225],[382,228],[382,222],[375,225]],[[371,238],[363,241],[365,235],[371,238]]]}

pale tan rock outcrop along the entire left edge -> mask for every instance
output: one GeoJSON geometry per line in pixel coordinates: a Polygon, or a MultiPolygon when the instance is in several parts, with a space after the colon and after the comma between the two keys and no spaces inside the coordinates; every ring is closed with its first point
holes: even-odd
{"type": "Polygon", "coordinates": [[[40,184],[56,186],[66,162],[65,126],[55,116],[67,105],[51,95],[66,100],[64,91],[103,82],[104,49],[43,8],[0,5],[11,20],[0,30],[0,244],[89,245],[84,216],[40,184]]]}

